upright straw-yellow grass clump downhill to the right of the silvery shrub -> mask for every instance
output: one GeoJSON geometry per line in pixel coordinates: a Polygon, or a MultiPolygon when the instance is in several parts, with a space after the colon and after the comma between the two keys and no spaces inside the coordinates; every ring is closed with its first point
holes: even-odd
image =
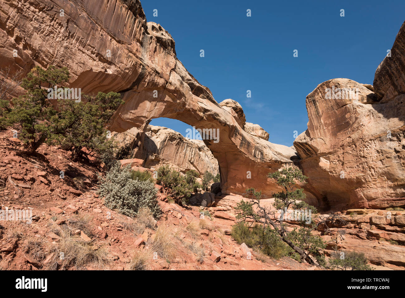
{"type": "Polygon", "coordinates": [[[156,229],[156,234],[150,243],[150,249],[157,252],[161,258],[173,260],[177,252],[175,233],[170,226],[164,224],[156,229]]]}

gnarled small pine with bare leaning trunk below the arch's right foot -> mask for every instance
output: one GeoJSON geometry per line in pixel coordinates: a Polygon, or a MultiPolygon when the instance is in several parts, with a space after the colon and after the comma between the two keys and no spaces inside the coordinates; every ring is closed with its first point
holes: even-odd
{"type": "MultiPolygon", "coordinates": [[[[269,173],[268,177],[272,178],[273,181],[284,188],[282,192],[273,194],[275,202],[273,206],[276,210],[285,211],[286,209],[293,210],[307,210],[316,212],[315,207],[308,205],[307,203],[301,201],[305,198],[305,194],[302,189],[295,189],[295,183],[297,181],[304,182],[307,177],[302,174],[301,170],[286,168],[275,173],[269,173]]],[[[261,239],[259,242],[254,237],[255,228],[252,227],[253,234],[249,230],[246,230],[244,226],[237,226],[237,229],[241,229],[239,233],[233,233],[237,237],[238,234],[248,233],[247,238],[251,237],[254,241],[254,245],[259,247],[265,253],[271,253],[277,255],[279,248],[276,249],[267,249],[266,243],[270,241],[273,243],[275,239],[277,241],[283,242],[284,245],[288,245],[287,249],[282,249],[283,253],[289,255],[291,258],[294,258],[300,262],[306,260],[310,264],[318,264],[324,266],[325,260],[324,256],[321,255],[320,251],[325,248],[325,244],[319,236],[315,236],[311,232],[315,230],[316,225],[314,221],[309,218],[307,221],[301,219],[302,228],[294,229],[289,232],[286,228],[286,224],[283,222],[283,217],[275,217],[275,210],[270,210],[267,207],[260,205],[260,198],[262,193],[256,191],[254,188],[246,189],[245,196],[250,198],[249,202],[241,201],[237,204],[236,209],[239,210],[237,219],[242,220],[242,223],[247,222],[247,219],[253,220],[254,222],[260,223],[260,228],[262,229],[261,239]],[[255,211],[254,206],[257,207],[255,211]],[[243,230],[243,228],[245,230],[243,230]],[[317,263],[313,261],[314,258],[317,263]]],[[[301,213],[300,213],[301,214],[301,213]]],[[[236,239],[236,238],[235,238],[236,239]]],[[[247,240],[248,241],[248,240],[247,240]]],[[[270,245],[271,247],[271,245],[270,245]]]]}

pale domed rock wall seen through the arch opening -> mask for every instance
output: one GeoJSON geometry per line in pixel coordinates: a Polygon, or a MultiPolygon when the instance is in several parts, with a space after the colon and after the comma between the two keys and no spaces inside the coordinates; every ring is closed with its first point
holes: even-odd
{"type": "Polygon", "coordinates": [[[179,132],[162,126],[149,125],[141,143],[141,133],[131,128],[113,136],[119,143],[130,144],[134,149],[131,156],[143,160],[141,166],[157,170],[168,165],[179,172],[196,170],[201,175],[205,171],[214,176],[219,173],[218,161],[202,140],[190,140],[179,132]]]}

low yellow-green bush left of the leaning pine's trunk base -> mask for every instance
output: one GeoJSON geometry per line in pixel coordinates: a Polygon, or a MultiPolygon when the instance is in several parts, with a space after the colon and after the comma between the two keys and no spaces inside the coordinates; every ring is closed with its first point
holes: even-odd
{"type": "Polygon", "coordinates": [[[231,236],[237,243],[245,243],[276,260],[292,252],[274,230],[270,227],[263,229],[259,224],[249,228],[249,224],[241,221],[232,226],[231,236]]]}

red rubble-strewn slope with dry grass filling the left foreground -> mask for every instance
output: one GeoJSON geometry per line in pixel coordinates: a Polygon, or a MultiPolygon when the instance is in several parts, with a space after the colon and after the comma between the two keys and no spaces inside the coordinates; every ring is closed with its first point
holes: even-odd
{"type": "Polygon", "coordinates": [[[12,134],[0,131],[0,213],[28,209],[33,221],[1,221],[0,270],[129,270],[140,255],[151,270],[315,269],[290,258],[271,260],[235,243],[229,236],[234,218],[224,216],[224,207],[184,208],[158,193],[163,215],[156,226],[142,228],[141,219],[104,206],[95,192],[101,168],[71,162],[69,152],[54,146],[41,145],[38,156],[28,157],[12,134]],[[202,218],[201,210],[212,219],[202,218]],[[150,248],[162,232],[171,244],[170,258],[154,257],[150,248]],[[81,249],[72,249],[77,244],[81,249]],[[69,263],[83,250],[103,262],[69,263]]]}

